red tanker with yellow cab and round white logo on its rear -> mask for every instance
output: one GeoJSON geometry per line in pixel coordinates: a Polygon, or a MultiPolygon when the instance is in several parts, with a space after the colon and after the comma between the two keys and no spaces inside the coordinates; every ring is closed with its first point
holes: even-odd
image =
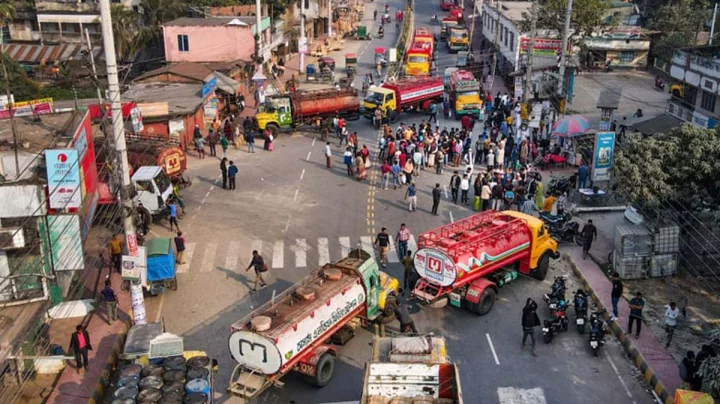
{"type": "Polygon", "coordinates": [[[557,242],[542,220],[516,211],[478,213],[420,235],[412,296],[484,315],[518,272],[545,279],[550,258],[559,258],[557,242]]]}

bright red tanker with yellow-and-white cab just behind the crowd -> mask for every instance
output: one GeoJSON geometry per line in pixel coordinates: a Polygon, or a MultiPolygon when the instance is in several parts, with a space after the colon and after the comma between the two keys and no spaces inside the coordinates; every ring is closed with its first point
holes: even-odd
{"type": "Polygon", "coordinates": [[[390,122],[395,122],[403,111],[427,111],[434,103],[442,105],[443,92],[442,77],[407,77],[370,87],[363,111],[366,118],[372,118],[380,108],[387,112],[390,122]]]}

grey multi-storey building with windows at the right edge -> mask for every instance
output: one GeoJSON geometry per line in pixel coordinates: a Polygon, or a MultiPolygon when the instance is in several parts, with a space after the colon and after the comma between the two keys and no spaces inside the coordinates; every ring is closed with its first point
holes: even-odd
{"type": "Polygon", "coordinates": [[[702,128],[720,121],[720,46],[677,49],[673,55],[668,113],[702,128]]]}

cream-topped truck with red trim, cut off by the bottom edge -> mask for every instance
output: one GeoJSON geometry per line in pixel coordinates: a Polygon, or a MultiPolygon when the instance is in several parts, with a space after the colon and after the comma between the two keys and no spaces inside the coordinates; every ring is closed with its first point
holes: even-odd
{"type": "Polygon", "coordinates": [[[360,404],[463,404],[458,367],[436,336],[376,337],[360,404]]]}

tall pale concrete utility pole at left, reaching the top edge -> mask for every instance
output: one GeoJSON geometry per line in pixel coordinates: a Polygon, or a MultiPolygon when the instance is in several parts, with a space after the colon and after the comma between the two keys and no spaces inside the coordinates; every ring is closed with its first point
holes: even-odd
{"type": "MultiPolygon", "coordinates": [[[[131,212],[134,210],[130,198],[130,164],[127,158],[127,146],[125,145],[125,128],[123,125],[122,104],[120,103],[120,83],[117,73],[117,60],[115,58],[115,38],[112,33],[112,20],[110,15],[110,0],[100,0],[100,23],[102,26],[103,47],[105,48],[105,63],[108,76],[108,97],[110,98],[110,111],[112,119],[112,134],[115,143],[116,162],[115,172],[120,171],[122,188],[120,189],[120,210],[123,215],[123,227],[125,229],[125,241],[128,253],[136,256],[138,253],[137,235],[131,212]]],[[[145,324],[145,299],[142,294],[142,286],[134,283],[131,286],[133,322],[145,324]]]]}

